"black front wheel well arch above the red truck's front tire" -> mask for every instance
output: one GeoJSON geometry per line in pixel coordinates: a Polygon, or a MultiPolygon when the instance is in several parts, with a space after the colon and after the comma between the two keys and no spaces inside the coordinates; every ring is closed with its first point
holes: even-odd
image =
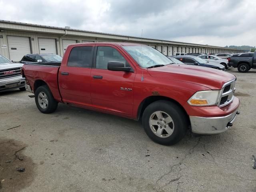
{"type": "Polygon", "coordinates": [[[184,114],[186,114],[186,119],[188,120],[188,123],[190,124],[190,120],[189,120],[189,116],[186,112],[186,110],[183,108],[183,106],[177,102],[176,100],[174,99],[171,99],[171,98],[168,98],[168,97],[165,97],[165,96],[149,96],[147,97],[146,99],[144,99],[141,103],[140,103],[140,106],[138,108],[138,115],[137,115],[137,119],[140,120],[141,117],[142,117],[142,114],[144,112],[144,110],[146,109],[146,107],[148,105],[150,105],[151,103],[155,102],[155,101],[158,101],[158,100],[166,100],[166,101],[170,101],[170,102],[173,102],[175,104],[177,104],[178,106],[180,106],[180,108],[183,110],[184,114]]]}

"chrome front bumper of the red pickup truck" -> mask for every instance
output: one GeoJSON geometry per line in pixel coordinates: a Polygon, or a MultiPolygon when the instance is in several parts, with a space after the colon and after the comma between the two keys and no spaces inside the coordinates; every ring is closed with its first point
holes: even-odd
{"type": "Polygon", "coordinates": [[[197,117],[189,116],[191,129],[196,134],[219,134],[232,126],[238,114],[238,109],[232,114],[223,117],[197,117]]]}

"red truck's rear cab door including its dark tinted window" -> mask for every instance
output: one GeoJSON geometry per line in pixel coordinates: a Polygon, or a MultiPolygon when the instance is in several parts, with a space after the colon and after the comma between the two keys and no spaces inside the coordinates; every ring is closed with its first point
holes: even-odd
{"type": "Polygon", "coordinates": [[[90,74],[94,45],[68,47],[70,54],[59,70],[59,88],[63,102],[90,105],[90,74]]]}

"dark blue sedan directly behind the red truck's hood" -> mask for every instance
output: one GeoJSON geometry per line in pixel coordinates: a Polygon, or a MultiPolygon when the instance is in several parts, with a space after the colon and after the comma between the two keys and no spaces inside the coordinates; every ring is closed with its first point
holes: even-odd
{"type": "Polygon", "coordinates": [[[188,65],[210,67],[210,68],[219,69],[223,71],[225,70],[225,67],[223,65],[218,64],[216,62],[203,60],[197,56],[186,55],[186,56],[176,56],[175,58],[180,60],[184,64],[188,64],[188,65]]]}

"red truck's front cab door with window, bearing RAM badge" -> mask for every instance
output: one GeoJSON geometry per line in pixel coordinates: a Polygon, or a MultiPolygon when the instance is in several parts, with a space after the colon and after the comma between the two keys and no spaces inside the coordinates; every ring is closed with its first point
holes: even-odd
{"type": "Polygon", "coordinates": [[[126,115],[132,115],[135,72],[110,71],[109,61],[129,64],[125,54],[112,45],[98,45],[94,51],[94,68],[91,72],[92,106],[126,115]]]}

